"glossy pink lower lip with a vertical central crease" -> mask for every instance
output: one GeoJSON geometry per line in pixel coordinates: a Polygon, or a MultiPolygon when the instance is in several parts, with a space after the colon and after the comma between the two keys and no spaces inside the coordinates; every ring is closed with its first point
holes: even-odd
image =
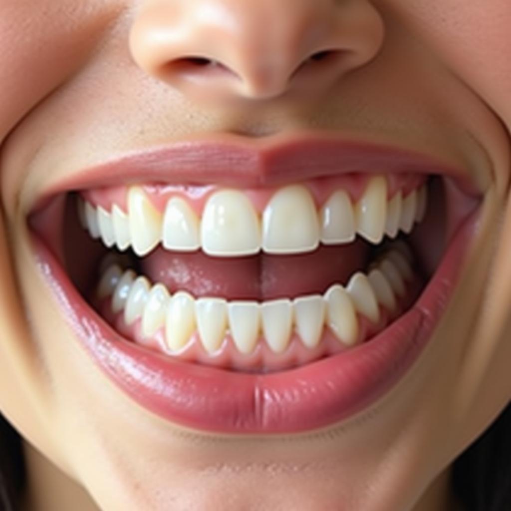
{"type": "Polygon", "coordinates": [[[216,433],[298,433],[362,411],[407,373],[432,337],[476,224],[459,229],[417,303],[369,342],[268,375],[190,364],[128,342],[79,295],[34,236],[37,265],[86,352],[135,402],[184,427],[216,433]]]}

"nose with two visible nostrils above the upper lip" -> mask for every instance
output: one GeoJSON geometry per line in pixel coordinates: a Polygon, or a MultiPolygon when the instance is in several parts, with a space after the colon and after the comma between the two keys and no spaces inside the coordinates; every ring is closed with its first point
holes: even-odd
{"type": "Polygon", "coordinates": [[[130,51],[193,100],[318,97],[379,52],[369,0],[145,0],[130,51]]]}

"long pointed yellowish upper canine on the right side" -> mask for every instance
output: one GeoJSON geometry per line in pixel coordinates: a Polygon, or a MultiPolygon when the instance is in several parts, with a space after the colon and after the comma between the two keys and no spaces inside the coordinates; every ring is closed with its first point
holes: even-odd
{"type": "Polygon", "coordinates": [[[383,176],[369,181],[355,208],[357,231],[366,240],[380,243],[387,218],[387,180],[383,176]]]}

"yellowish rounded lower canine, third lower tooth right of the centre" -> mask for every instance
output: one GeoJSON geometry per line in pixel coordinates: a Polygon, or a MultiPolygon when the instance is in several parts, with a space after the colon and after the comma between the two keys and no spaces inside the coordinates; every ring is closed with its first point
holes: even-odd
{"type": "Polygon", "coordinates": [[[335,284],[324,294],[324,299],[330,330],[343,344],[352,346],[358,338],[358,318],[350,295],[342,286],[335,284]]]}

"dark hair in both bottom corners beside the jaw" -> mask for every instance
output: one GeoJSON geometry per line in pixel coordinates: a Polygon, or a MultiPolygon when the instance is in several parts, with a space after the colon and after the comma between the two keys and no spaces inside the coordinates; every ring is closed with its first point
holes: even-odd
{"type": "MultiPolygon", "coordinates": [[[[466,511],[511,509],[511,404],[456,459],[452,484],[466,511]]],[[[19,511],[25,485],[20,438],[0,414],[1,511],[19,511]]]]}

